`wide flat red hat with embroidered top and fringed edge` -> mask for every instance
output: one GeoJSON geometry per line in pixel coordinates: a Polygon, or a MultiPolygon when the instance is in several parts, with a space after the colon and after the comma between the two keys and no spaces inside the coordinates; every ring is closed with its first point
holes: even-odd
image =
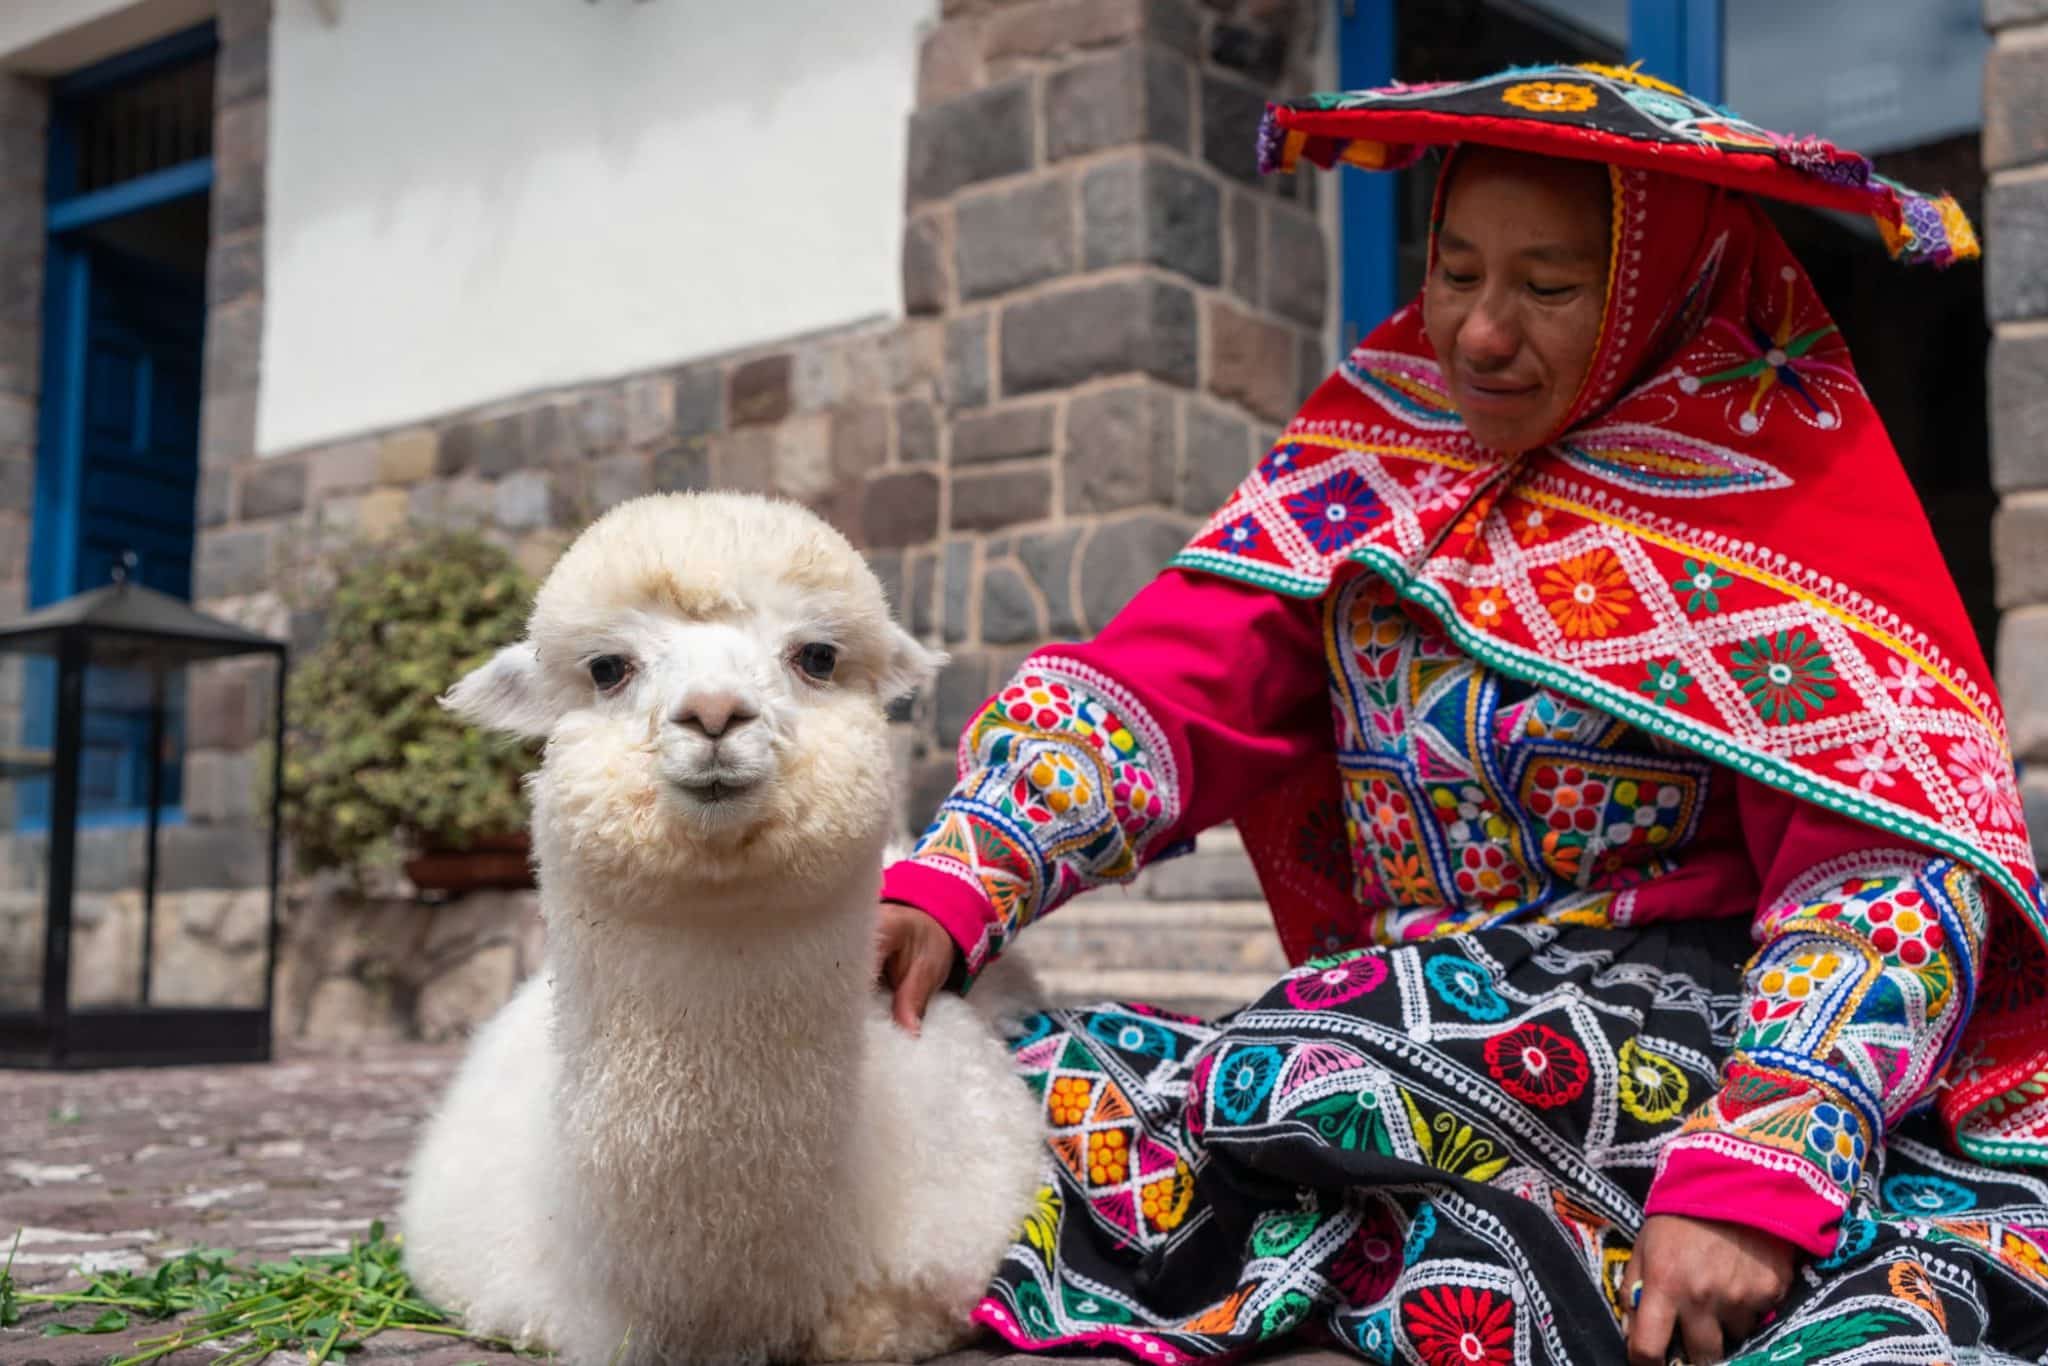
{"type": "Polygon", "coordinates": [[[1401,170],[1430,147],[1491,143],[1542,156],[1661,170],[1817,209],[1868,213],[1898,260],[1948,266],[1978,254],[1950,195],[1880,176],[1819,137],[1784,137],[1634,68],[1530,66],[1466,82],[1384,86],[1272,104],[1260,168],[1401,170]]]}

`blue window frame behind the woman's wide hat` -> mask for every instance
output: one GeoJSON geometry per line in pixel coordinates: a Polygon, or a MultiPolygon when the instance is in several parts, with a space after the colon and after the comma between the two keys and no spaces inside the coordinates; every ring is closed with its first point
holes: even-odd
{"type": "MultiPolygon", "coordinates": [[[[1407,0],[1409,14],[1427,14],[1430,0],[1407,0]]],[[[1722,98],[1724,0],[1626,0],[1628,59],[1653,76],[1677,82],[1692,94],[1722,98]]],[[[1382,86],[1397,76],[1421,80],[1432,72],[1395,72],[1401,47],[1401,0],[1335,0],[1337,84],[1346,90],[1382,86]]],[[[1573,18],[1569,0],[1522,4],[1573,18]]],[[[1595,6],[1606,10],[1608,6],[1595,6]]],[[[1341,229],[1339,346],[1350,350],[1399,307],[1399,178],[1348,170],[1337,176],[1341,229]]]]}

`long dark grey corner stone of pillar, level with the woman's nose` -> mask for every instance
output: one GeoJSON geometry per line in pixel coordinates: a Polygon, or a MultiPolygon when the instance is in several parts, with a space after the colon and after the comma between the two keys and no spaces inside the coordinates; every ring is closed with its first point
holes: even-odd
{"type": "Polygon", "coordinates": [[[1079,285],[1012,303],[1001,317],[1004,393],[1141,373],[1192,387],[1194,295],[1149,279],[1079,285]]]}

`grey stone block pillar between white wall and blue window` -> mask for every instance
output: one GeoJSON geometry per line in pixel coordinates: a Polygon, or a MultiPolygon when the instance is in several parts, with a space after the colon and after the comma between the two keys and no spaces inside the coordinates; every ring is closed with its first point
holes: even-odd
{"type": "Polygon", "coordinates": [[[954,661],[920,813],[1016,661],[1100,629],[1321,381],[1317,186],[1262,180],[1255,139],[1323,8],[944,0],[926,35],[903,301],[946,365],[907,582],[954,661]]]}

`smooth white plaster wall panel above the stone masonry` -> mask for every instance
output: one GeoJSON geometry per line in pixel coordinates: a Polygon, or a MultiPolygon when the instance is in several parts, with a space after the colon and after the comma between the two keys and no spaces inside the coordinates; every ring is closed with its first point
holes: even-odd
{"type": "Polygon", "coordinates": [[[897,311],[934,12],[276,0],[258,446],[897,311]]]}

